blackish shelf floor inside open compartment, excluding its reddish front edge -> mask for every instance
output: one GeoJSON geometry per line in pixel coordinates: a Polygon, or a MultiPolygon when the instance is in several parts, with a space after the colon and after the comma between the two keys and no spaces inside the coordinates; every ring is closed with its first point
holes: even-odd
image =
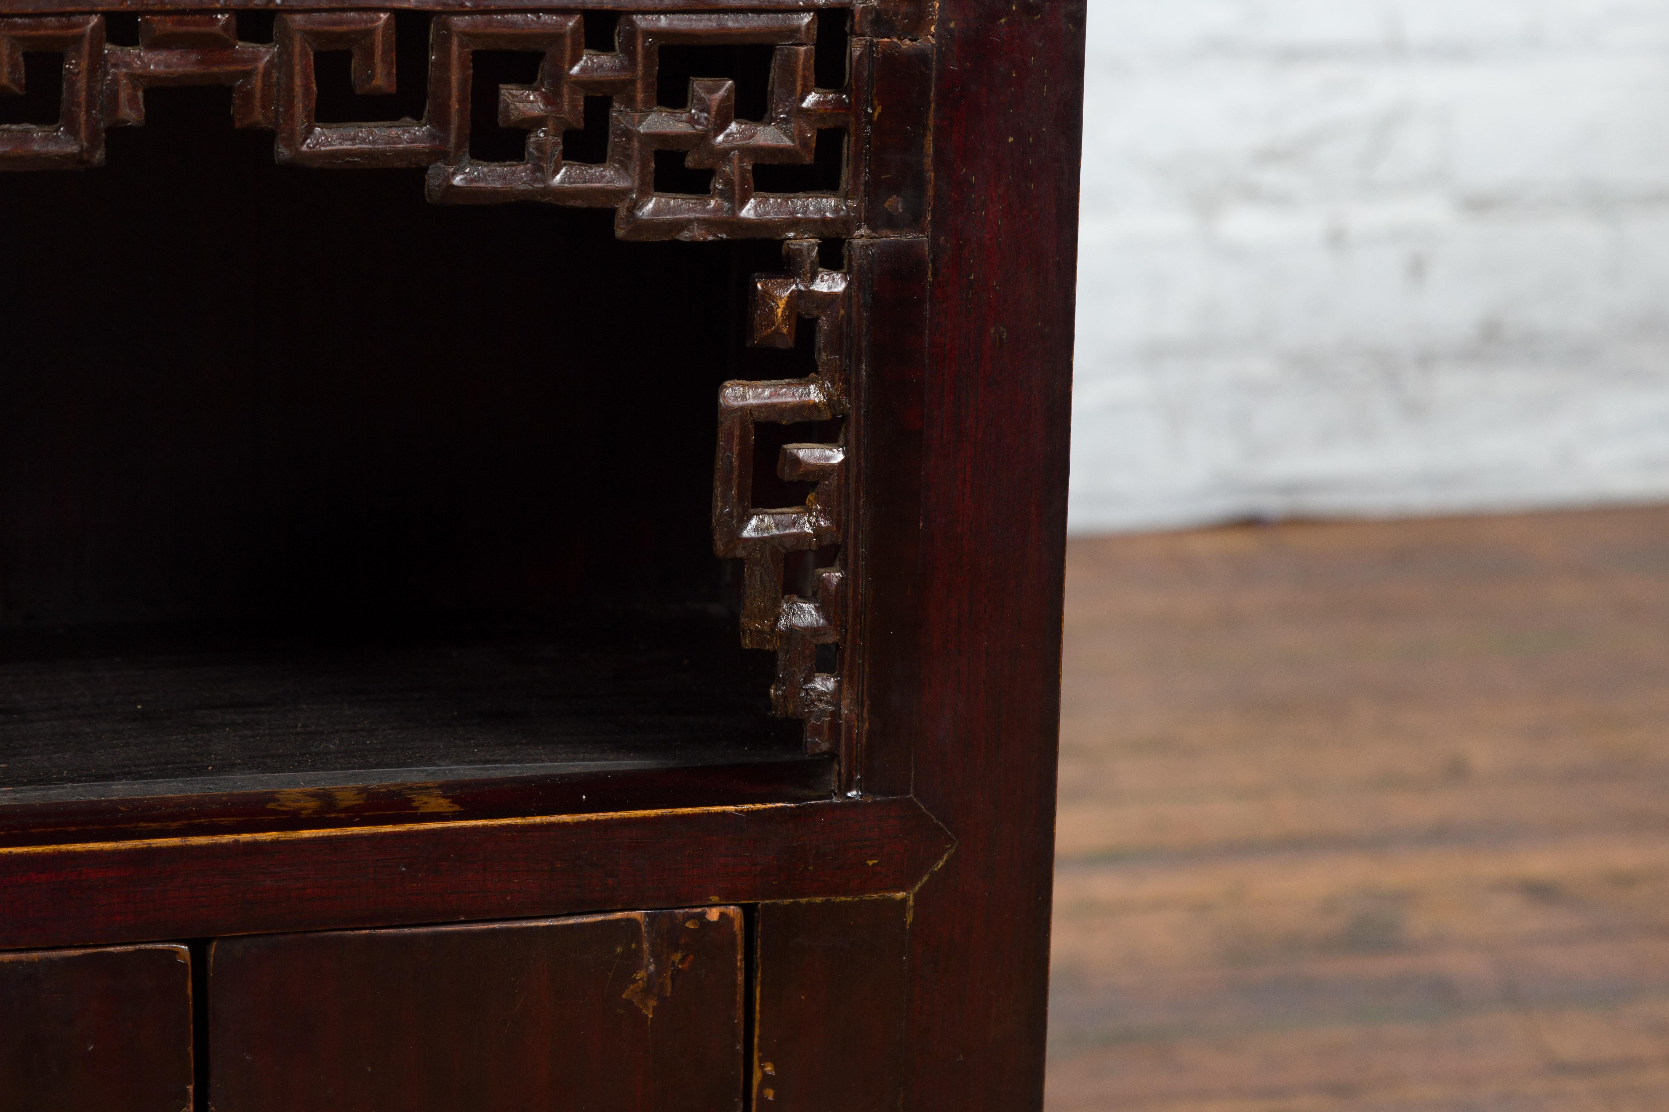
{"type": "Polygon", "coordinates": [[[147,794],[165,782],[262,790],[803,750],[798,724],[766,714],[769,657],[739,649],[718,607],[359,639],[80,629],[8,649],[0,802],[97,797],[108,784],[132,794],[147,780],[159,782],[147,794]]]}

